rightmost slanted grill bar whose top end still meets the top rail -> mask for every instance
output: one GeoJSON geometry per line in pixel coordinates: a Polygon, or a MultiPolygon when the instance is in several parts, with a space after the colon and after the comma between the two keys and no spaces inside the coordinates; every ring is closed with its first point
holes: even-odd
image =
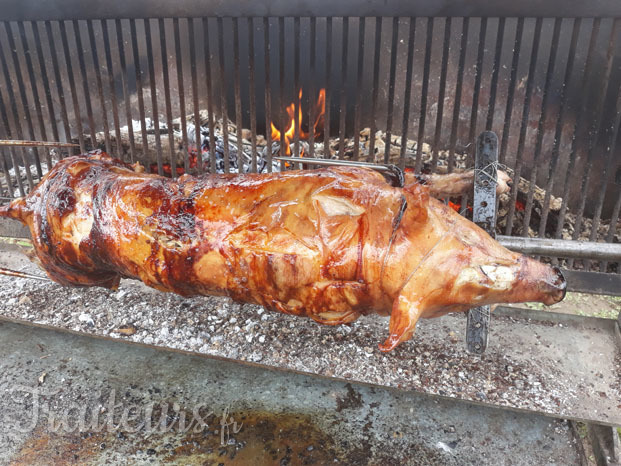
{"type": "MultiPolygon", "coordinates": [[[[593,156],[595,154],[595,148],[597,147],[597,140],[599,139],[599,133],[602,124],[603,112],[604,112],[604,101],[606,99],[606,94],[608,93],[608,83],[610,81],[610,73],[612,71],[612,62],[614,59],[614,51],[615,51],[615,42],[617,35],[619,33],[619,25],[621,21],[618,19],[614,20],[612,30],[610,31],[610,38],[608,39],[608,51],[606,53],[606,67],[603,73],[603,87],[599,94],[599,98],[596,105],[595,110],[595,120],[591,126],[591,131],[589,131],[589,145],[587,150],[587,160],[586,160],[586,170],[584,171],[584,175],[582,177],[581,190],[582,196],[580,197],[580,206],[578,207],[578,214],[576,216],[576,223],[574,225],[574,233],[572,235],[573,240],[577,240],[580,237],[580,233],[582,232],[582,220],[584,219],[584,209],[586,207],[586,199],[587,193],[589,192],[589,183],[591,179],[591,171],[593,169],[593,156]]],[[[605,172],[603,174],[605,176],[605,172]]],[[[601,182],[601,181],[600,181],[601,182]]],[[[599,224],[599,215],[597,218],[593,219],[592,226],[595,226],[595,222],[599,224]]],[[[573,259],[569,259],[567,261],[567,266],[572,267],[574,264],[573,259]]],[[[590,261],[585,261],[585,265],[590,267],[590,261]]]]}

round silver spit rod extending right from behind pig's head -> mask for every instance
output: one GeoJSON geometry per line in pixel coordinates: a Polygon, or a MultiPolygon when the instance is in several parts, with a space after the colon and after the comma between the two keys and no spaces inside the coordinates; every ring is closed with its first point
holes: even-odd
{"type": "Polygon", "coordinates": [[[507,249],[522,254],[573,259],[621,261],[621,244],[617,243],[523,238],[517,236],[497,236],[496,240],[507,249]]]}

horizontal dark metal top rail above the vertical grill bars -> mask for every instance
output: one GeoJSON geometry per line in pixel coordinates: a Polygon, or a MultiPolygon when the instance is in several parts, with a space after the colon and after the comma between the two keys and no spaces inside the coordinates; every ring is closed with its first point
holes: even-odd
{"type": "Polygon", "coordinates": [[[621,5],[614,0],[591,4],[580,0],[549,1],[523,0],[291,0],[274,3],[270,0],[109,0],[92,5],[81,0],[5,0],[3,15],[7,21],[60,19],[142,19],[145,13],[153,18],[171,17],[343,17],[356,12],[359,17],[546,17],[567,16],[592,18],[621,17],[621,5]]]}

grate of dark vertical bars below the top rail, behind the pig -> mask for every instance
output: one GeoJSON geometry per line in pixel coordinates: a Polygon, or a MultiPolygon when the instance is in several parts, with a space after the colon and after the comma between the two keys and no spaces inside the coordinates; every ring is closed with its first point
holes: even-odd
{"type": "MultiPolygon", "coordinates": [[[[6,139],[74,141],[80,151],[100,147],[160,174],[170,164],[175,177],[243,167],[241,128],[250,129],[251,171],[271,170],[272,155],[288,141],[289,102],[294,155],[306,148],[310,157],[325,156],[332,143],[341,159],[453,171],[473,165],[469,143],[493,130],[500,162],[526,183],[525,191],[513,185],[504,234],[528,236],[530,225],[539,237],[580,239],[591,225],[587,239],[618,240],[616,18],[16,16],[0,28],[6,139]],[[316,135],[320,89],[325,124],[316,135]],[[408,137],[412,144],[402,144],[408,137]],[[205,164],[201,142],[213,149],[205,164]],[[537,187],[545,191],[539,204],[537,187]],[[562,202],[553,212],[554,196],[562,202]],[[574,229],[564,231],[570,217],[574,229]]],[[[2,149],[2,196],[23,195],[70,152],[2,149]]],[[[605,262],[599,268],[620,271],[605,262]]]]}

